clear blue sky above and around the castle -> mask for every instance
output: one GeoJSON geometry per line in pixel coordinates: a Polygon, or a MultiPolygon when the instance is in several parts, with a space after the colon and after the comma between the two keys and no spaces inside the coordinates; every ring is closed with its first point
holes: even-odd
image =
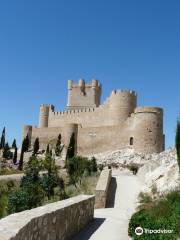
{"type": "Polygon", "coordinates": [[[68,79],[96,77],[103,99],[134,89],[165,110],[166,146],[180,113],[180,1],[0,1],[0,130],[21,139],[39,105],[65,107],[68,79]]]}

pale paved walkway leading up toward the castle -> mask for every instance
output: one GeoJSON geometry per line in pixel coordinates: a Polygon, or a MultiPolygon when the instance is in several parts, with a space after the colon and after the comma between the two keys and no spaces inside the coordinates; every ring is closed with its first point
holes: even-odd
{"type": "Polygon", "coordinates": [[[141,183],[130,172],[114,170],[108,206],[96,209],[94,221],[74,240],[129,240],[128,222],[137,206],[141,183]]]}

